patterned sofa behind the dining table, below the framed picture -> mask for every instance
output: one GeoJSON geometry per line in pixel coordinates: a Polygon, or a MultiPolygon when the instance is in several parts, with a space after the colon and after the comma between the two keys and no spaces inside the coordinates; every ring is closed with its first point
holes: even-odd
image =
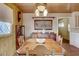
{"type": "Polygon", "coordinates": [[[42,32],[33,32],[31,34],[31,38],[50,38],[50,39],[53,39],[56,41],[56,33],[54,32],[45,32],[45,33],[42,33],[42,32]]]}

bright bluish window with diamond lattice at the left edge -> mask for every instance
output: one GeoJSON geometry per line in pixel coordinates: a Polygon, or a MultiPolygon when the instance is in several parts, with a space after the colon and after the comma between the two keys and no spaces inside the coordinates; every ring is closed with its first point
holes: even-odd
{"type": "Polygon", "coordinates": [[[0,22],[0,35],[10,33],[11,33],[11,24],[8,22],[0,22]]]}

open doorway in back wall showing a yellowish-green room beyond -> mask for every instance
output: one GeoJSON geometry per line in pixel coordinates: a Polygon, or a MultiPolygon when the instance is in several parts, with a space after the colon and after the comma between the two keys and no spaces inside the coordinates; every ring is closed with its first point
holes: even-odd
{"type": "Polygon", "coordinates": [[[69,18],[59,18],[58,25],[58,34],[63,37],[63,43],[69,44],[69,18]]]}

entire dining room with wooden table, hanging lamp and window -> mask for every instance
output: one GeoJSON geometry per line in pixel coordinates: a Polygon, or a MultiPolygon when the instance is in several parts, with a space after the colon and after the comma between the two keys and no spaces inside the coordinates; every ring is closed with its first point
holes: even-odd
{"type": "Polygon", "coordinates": [[[5,3],[0,7],[4,15],[0,15],[0,55],[79,55],[78,3],[5,3]]]}

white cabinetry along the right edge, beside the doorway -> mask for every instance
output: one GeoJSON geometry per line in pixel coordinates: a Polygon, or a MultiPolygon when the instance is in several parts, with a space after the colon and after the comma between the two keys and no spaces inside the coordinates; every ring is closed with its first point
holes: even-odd
{"type": "Polygon", "coordinates": [[[79,23],[79,19],[76,18],[77,16],[79,17],[79,12],[73,12],[72,18],[70,19],[70,45],[79,48],[79,26],[76,27],[76,24],[79,23]]]}

